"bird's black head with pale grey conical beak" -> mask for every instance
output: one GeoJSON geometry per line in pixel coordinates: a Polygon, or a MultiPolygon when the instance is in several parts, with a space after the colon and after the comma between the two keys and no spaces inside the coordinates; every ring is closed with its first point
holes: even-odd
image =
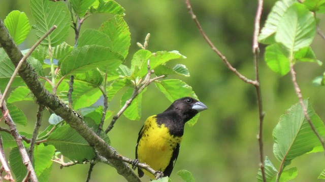
{"type": "Polygon", "coordinates": [[[206,109],[208,109],[208,107],[202,102],[190,97],[184,97],[174,101],[174,103],[165,112],[176,112],[185,123],[186,121],[192,119],[200,111],[206,109]]]}

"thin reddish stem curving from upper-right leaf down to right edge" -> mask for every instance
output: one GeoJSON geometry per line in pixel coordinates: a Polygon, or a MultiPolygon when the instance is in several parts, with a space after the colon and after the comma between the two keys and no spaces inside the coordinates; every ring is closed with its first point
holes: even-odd
{"type": "Polygon", "coordinates": [[[309,117],[309,115],[308,115],[307,107],[306,107],[306,105],[305,105],[305,103],[304,103],[303,96],[302,96],[302,94],[301,94],[301,89],[300,89],[300,87],[299,87],[299,85],[298,85],[298,82],[297,82],[297,77],[296,77],[296,74],[297,74],[297,73],[296,73],[296,71],[295,71],[295,69],[294,69],[294,63],[293,63],[293,61],[292,61],[291,58],[289,59],[289,62],[290,62],[290,73],[291,73],[291,79],[292,79],[292,81],[293,81],[293,83],[294,83],[295,90],[296,90],[296,94],[297,94],[297,97],[298,97],[298,99],[299,99],[299,103],[300,103],[300,105],[301,105],[301,108],[302,108],[302,110],[303,110],[303,113],[304,113],[304,115],[305,115],[305,118],[306,118],[306,120],[308,121],[308,123],[309,123],[311,129],[312,129],[312,130],[314,131],[314,133],[316,134],[316,136],[317,136],[318,140],[320,141],[320,143],[321,143],[323,149],[325,150],[325,143],[324,143],[324,140],[322,139],[322,137],[321,137],[321,136],[319,135],[319,133],[317,132],[315,126],[314,126],[313,123],[311,122],[311,119],[310,119],[310,117],[309,117]]]}

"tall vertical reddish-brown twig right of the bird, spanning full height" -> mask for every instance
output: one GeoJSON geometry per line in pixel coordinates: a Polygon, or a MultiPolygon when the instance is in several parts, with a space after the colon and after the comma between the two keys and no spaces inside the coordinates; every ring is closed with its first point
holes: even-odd
{"type": "Polygon", "coordinates": [[[254,21],[254,33],[253,33],[253,55],[254,55],[254,66],[255,66],[255,80],[258,84],[255,84],[256,98],[258,105],[258,115],[259,115],[259,131],[257,135],[258,146],[259,146],[259,167],[261,168],[263,181],[266,182],[265,167],[264,167],[264,148],[263,148],[263,121],[265,113],[263,111],[262,93],[261,85],[259,84],[259,45],[258,45],[258,34],[260,29],[260,21],[263,10],[263,0],[258,0],[256,16],[254,21]]]}

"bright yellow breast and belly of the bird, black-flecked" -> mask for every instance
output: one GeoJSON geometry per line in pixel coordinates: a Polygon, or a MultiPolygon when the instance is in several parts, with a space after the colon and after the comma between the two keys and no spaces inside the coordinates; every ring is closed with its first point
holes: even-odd
{"type": "MultiPolygon", "coordinates": [[[[164,171],[170,163],[174,149],[181,140],[181,136],[170,135],[169,129],[164,124],[158,126],[151,116],[144,124],[142,138],[138,144],[138,159],[154,170],[164,171]]],[[[143,171],[154,178],[146,170],[143,171]]]]}

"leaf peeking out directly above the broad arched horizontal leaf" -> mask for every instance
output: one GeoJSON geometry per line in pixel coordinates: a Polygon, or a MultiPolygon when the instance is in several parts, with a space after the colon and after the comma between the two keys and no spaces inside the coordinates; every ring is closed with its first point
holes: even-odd
{"type": "Polygon", "coordinates": [[[78,47],[84,45],[102,45],[106,48],[112,48],[111,38],[103,32],[95,29],[86,29],[78,39],[78,47]]]}

